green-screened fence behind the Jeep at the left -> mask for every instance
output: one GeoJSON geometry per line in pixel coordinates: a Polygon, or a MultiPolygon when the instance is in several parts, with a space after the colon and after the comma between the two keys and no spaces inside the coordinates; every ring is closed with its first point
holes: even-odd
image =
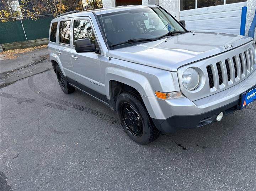
{"type": "Polygon", "coordinates": [[[0,44],[48,38],[52,19],[53,15],[0,18],[0,44]]]}

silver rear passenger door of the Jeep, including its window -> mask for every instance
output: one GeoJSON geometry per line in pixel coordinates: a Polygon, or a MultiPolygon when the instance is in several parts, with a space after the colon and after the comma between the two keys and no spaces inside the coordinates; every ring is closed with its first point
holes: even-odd
{"type": "Polygon", "coordinates": [[[75,75],[73,72],[73,66],[70,60],[70,50],[71,50],[71,43],[70,43],[70,25],[71,25],[71,18],[68,19],[61,19],[59,21],[59,29],[58,29],[58,46],[56,48],[56,54],[59,57],[60,63],[64,73],[66,74],[66,78],[68,82],[72,84],[76,84],[75,82],[75,75]]]}

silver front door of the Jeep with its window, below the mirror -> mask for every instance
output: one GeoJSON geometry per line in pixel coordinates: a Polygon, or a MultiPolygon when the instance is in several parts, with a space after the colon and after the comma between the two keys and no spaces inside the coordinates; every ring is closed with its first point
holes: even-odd
{"type": "Polygon", "coordinates": [[[72,26],[72,49],[70,58],[74,68],[75,78],[79,88],[87,93],[101,99],[106,100],[105,85],[103,84],[101,75],[101,54],[95,52],[77,53],[75,51],[74,41],[78,39],[90,39],[92,44],[96,44],[96,48],[100,48],[97,43],[94,27],[89,17],[74,18],[72,26]]]}

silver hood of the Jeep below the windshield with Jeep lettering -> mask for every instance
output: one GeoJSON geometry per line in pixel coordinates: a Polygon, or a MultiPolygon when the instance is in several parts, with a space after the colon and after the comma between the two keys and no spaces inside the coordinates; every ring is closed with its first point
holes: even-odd
{"type": "Polygon", "coordinates": [[[110,50],[112,58],[177,71],[185,64],[232,50],[252,38],[224,33],[189,32],[135,46],[110,50]],[[226,49],[224,46],[233,45],[226,49]]]}

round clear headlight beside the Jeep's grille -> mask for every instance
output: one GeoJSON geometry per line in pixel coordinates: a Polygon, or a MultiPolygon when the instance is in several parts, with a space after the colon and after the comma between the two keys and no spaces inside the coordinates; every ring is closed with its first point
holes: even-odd
{"type": "Polygon", "coordinates": [[[200,76],[196,69],[188,68],[182,75],[182,84],[188,90],[194,90],[199,86],[200,76]]]}

